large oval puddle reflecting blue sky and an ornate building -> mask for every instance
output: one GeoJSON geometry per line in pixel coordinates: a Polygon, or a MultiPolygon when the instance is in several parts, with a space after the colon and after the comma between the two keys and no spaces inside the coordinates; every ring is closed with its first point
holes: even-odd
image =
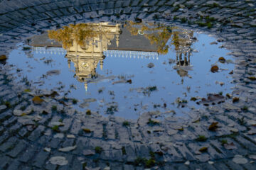
{"type": "Polygon", "coordinates": [[[207,94],[231,93],[233,58],[221,45],[163,23],[81,23],[29,39],[8,62],[21,69],[18,79],[75,98],[78,110],[186,116],[207,94]]]}

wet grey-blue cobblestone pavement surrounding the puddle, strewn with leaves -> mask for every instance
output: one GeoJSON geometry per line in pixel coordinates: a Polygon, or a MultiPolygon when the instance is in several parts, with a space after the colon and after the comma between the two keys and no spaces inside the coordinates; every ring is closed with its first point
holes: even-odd
{"type": "Polygon", "coordinates": [[[174,21],[214,35],[235,57],[239,95],[235,103],[188,113],[189,120],[149,122],[145,113],[124,123],[79,113],[61,97],[34,105],[24,92],[29,82],[17,84],[16,68],[1,64],[0,169],[256,169],[255,1],[3,0],[0,6],[0,55],[7,56],[31,35],[88,21],[174,21]],[[217,130],[208,130],[214,122],[217,130]]]}

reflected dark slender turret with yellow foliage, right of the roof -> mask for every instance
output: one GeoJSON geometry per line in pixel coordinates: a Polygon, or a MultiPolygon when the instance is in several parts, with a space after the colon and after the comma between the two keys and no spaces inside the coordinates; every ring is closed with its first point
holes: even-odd
{"type": "Polygon", "coordinates": [[[176,51],[177,74],[182,78],[188,77],[191,65],[191,45],[196,41],[193,37],[193,30],[181,29],[174,26],[165,26],[155,23],[134,23],[128,21],[125,25],[131,35],[144,35],[151,44],[155,44],[157,52],[167,54],[171,47],[176,51]]]}

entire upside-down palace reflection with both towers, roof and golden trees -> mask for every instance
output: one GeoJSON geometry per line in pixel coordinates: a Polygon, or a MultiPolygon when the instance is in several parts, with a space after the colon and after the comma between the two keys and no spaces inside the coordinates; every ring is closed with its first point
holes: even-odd
{"type": "Polygon", "coordinates": [[[137,59],[158,59],[169,50],[176,51],[177,73],[188,77],[191,65],[191,45],[196,41],[193,31],[159,25],[157,23],[134,23],[124,26],[112,23],[79,23],[49,30],[47,37],[33,38],[32,45],[40,51],[53,47],[51,52],[66,52],[68,67],[75,67],[74,77],[85,84],[98,77],[97,65],[103,68],[105,57],[126,57],[137,59]],[[65,49],[65,50],[62,50],[65,49]]]}

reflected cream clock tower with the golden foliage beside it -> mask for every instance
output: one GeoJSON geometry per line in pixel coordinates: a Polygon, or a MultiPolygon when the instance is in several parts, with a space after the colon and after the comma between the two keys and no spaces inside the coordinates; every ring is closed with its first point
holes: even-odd
{"type": "Polygon", "coordinates": [[[97,78],[97,64],[103,68],[104,52],[115,38],[115,44],[119,46],[119,24],[109,23],[81,23],[62,30],[50,30],[49,38],[63,43],[67,50],[65,58],[74,63],[75,75],[78,81],[85,84],[87,91],[88,79],[97,78]],[[70,30],[71,28],[71,30],[70,30]],[[65,36],[69,37],[67,39],[65,36]]]}

